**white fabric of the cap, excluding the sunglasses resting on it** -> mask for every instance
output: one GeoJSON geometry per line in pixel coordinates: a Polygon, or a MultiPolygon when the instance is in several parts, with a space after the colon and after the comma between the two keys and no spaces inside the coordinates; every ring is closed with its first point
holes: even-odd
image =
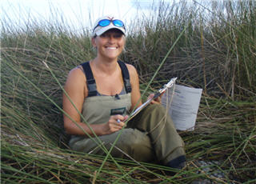
{"type": "MultiPolygon", "coordinates": [[[[126,35],[126,29],[124,27],[118,27],[118,26],[114,26],[113,22],[110,22],[109,26],[98,26],[98,22],[100,22],[103,19],[109,19],[109,20],[121,20],[120,18],[115,18],[114,16],[104,16],[102,18],[98,18],[98,20],[94,23],[94,32],[93,35],[97,35],[100,36],[103,33],[105,33],[107,30],[110,29],[118,29],[121,30],[123,34],[126,35]]],[[[121,20],[122,21],[122,20],[121,20]]],[[[123,22],[123,21],[122,21],[123,22]]]]}

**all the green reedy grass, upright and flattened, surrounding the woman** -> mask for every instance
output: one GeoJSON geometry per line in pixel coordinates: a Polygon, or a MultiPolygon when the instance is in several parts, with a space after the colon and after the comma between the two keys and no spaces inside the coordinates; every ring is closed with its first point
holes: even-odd
{"type": "Polygon", "coordinates": [[[21,28],[6,18],[2,183],[256,182],[255,2],[159,5],[130,25],[121,58],[138,69],[142,90],[165,57],[150,90],[172,77],[203,89],[195,130],[180,132],[186,168],[168,174],[164,166],[120,159],[102,164],[102,157],[71,151],[62,127],[61,86],[70,69],[94,58],[90,30],[74,34],[63,22],[34,20],[21,28]]]}

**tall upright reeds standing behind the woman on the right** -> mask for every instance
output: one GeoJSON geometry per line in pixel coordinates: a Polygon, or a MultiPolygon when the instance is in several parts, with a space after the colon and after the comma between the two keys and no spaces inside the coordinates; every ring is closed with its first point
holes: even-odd
{"type": "Polygon", "coordinates": [[[187,26],[158,78],[178,76],[187,85],[232,99],[254,96],[255,86],[250,85],[255,83],[256,66],[254,7],[252,1],[213,1],[210,8],[196,1],[163,4],[139,25],[134,22],[134,30],[142,28],[131,34],[126,59],[147,81],[187,26]]]}

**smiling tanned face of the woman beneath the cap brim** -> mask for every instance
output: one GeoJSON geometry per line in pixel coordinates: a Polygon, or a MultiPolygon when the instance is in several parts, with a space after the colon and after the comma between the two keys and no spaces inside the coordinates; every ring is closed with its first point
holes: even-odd
{"type": "Polygon", "coordinates": [[[92,44],[97,48],[98,56],[107,59],[117,59],[125,46],[125,37],[118,30],[108,30],[104,34],[92,38],[92,44]]]}

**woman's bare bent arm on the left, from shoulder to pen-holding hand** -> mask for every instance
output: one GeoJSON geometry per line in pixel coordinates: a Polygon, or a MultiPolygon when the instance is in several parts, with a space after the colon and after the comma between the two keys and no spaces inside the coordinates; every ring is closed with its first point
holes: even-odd
{"type": "MultiPolygon", "coordinates": [[[[70,102],[69,98],[66,97],[66,94],[63,94],[63,110],[76,122],[74,123],[64,114],[64,128],[66,133],[86,136],[86,132],[87,134],[93,135],[93,132],[86,126],[86,123],[81,122],[80,114],[78,113],[82,112],[82,105],[88,94],[86,77],[82,70],[75,68],[70,71],[64,89],[74,105],[70,102]],[[76,106],[77,110],[74,106],[76,106]]],[[[97,135],[112,134],[115,131],[121,130],[122,126],[124,126],[123,122],[117,122],[118,119],[124,121],[125,117],[121,115],[111,116],[109,122],[90,125],[90,127],[97,135]]]]}

